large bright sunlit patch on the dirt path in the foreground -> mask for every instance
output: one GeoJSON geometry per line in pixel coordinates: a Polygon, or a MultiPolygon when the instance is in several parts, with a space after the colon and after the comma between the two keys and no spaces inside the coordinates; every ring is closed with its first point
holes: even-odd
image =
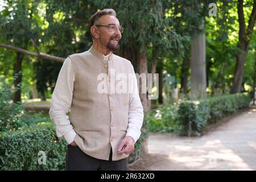
{"type": "MultiPolygon", "coordinates": [[[[185,141],[183,140],[183,142],[185,141]]],[[[247,144],[256,148],[255,142],[247,142],[247,144]]],[[[168,155],[170,164],[166,164],[166,166],[183,166],[184,169],[192,170],[253,170],[232,149],[223,145],[221,140],[207,140],[201,145],[193,145],[195,143],[166,146],[161,151],[163,155],[168,155]]],[[[149,149],[149,152],[154,154],[154,149],[149,149]]]]}

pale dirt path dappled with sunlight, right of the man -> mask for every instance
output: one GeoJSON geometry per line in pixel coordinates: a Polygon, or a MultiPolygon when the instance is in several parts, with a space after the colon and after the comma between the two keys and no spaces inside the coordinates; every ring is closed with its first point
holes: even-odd
{"type": "Polygon", "coordinates": [[[256,109],[243,111],[203,137],[152,134],[148,154],[129,170],[256,170],[256,109]]]}

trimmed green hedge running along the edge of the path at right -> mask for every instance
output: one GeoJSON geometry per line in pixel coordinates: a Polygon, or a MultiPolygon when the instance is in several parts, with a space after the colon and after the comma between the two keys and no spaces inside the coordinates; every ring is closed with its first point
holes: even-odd
{"type": "Polygon", "coordinates": [[[249,107],[248,93],[210,97],[199,101],[182,101],[178,108],[181,135],[200,135],[205,126],[218,121],[238,109],[249,107]]]}

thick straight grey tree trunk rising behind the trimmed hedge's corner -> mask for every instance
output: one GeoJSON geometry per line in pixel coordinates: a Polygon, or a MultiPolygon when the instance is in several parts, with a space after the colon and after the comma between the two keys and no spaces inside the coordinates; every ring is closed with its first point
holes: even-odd
{"type": "MultiPolygon", "coordinates": [[[[204,22],[200,29],[203,30],[204,22]]],[[[191,99],[206,97],[205,32],[192,37],[191,45],[191,99]]]]}

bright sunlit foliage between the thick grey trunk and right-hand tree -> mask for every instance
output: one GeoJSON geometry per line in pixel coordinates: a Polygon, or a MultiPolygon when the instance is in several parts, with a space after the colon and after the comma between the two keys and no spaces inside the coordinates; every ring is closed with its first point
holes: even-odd
{"type": "Polygon", "coordinates": [[[217,16],[205,18],[207,86],[210,95],[229,93],[236,62],[238,20],[233,1],[216,2],[217,16]]]}

